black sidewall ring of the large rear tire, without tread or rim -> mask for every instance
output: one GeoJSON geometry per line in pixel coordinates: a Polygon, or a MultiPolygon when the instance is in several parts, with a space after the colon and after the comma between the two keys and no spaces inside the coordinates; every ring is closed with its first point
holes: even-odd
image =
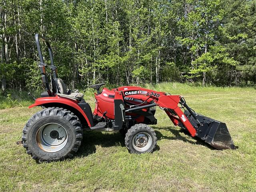
{"type": "Polygon", "coordinates": [[[59,160],[67,156],[73,149],[76,142],[76,133],[74,127],[70,124],[70,122],[68,122],[64,118],[61,118],[60,116],[45,116],[40,118],[31,125],[31,128],[28,132],[27,140],[28,148],[30,148],[33,151],[33,154],[36,155],[41,160],[59,160]],[[36,142],[36,134],[42,126],[53,122],[56,124],[60,124],[65,128],[68,140],[64,148],[62,148],[60,151],[46,152],[38,146],[36,142]]]}

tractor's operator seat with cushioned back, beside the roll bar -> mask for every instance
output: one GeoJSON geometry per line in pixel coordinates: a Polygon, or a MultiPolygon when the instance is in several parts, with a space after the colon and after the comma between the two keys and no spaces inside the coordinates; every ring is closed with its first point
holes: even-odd
{"type": "Polygon", "coordinates": [[[73,100],[81,100],[83,98],[83,96],[84,96],[83,93],[79,93],[79,92],[71,93],[71,90],[67,90],[67,87],[62,79],[55,78],[54,82],[55,82],[57,90],[58,90],[58,93],[57,93],[58,96],[66,97],[66,98],[73,99],[73,100]]]}

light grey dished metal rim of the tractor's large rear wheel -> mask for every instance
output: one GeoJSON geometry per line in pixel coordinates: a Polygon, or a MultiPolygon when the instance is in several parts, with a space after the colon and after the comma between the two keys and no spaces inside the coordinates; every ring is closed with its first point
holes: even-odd
{"type": "Polygon", "coordinates": [[[57,123],[48,123],[39,128],[36,133],[36,143],[46,152],[62,150],[68,141],[66,129],[57,123]]]}

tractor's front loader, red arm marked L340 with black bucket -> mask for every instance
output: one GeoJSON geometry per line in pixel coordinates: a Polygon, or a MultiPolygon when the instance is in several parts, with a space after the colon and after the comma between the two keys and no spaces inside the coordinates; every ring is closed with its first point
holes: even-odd
{"type": "MultiPolygon", "coordinates": [[[[196,114],[196,112],[186,104],[182,96],[170,95],[165,92],[157,92],[135,86],[120,87],[115,89],[115,91],[120,92],[123,98],[138,94],[152,98],[155,106],[159,106],[164,110],[175,126],[178,125],[187,129],[192,137],[197,136],[219,150],[236,148],[225,123],[196,114]],[[181,107],[179,107],[179,104],[181,107]],[[184,111],[182,111],[181,108],[183,108],[184,111]]],[[[144,108],[154,104],[144,105],[144,108]]],[[[143,108],[143,106],[132,108],[132,110],[141,108],[143,108]]],[[[126,110],[126,112],[132,110],[129,109],[126,110]]]]}

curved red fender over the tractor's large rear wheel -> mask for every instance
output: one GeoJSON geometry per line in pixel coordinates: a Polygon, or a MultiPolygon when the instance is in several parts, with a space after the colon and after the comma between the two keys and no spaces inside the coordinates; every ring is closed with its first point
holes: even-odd
{"type": "Polygon", "coordinates": [[[90,124],[90,121],[87,117],[87,115],[84,113],[84,111],[82,110],[82,108],[80,108],[80,106],[78,106],[78,101],[75,100],[70,100],[67,98],[61,98],[59,96],[56,97],[42,97],[42,98],[37,98],[35,100],[35,103],[28,106],[28,108],[32,108],[35,106],[44,106],[44,104],[51,104],[51,103],[61,103],[61,104],[65,104],[68,105],[76,110],[78,110],[78,112],[80,112],[82,114],[82,116],[85,118],[86,122],[88,123],[88,126],[93,126],[90,124]]]}

